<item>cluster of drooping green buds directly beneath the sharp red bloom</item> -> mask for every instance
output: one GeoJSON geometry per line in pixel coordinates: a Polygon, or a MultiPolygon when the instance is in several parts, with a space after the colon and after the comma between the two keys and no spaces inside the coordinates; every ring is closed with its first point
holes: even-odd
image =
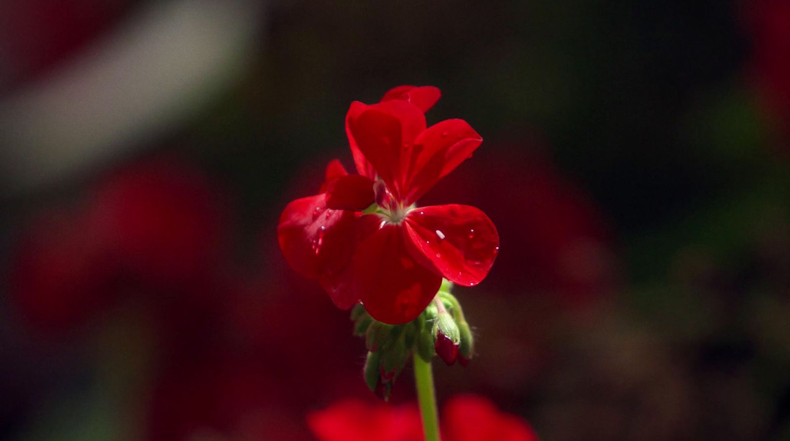
{"type": "Polygon", "coordinates": [[[461,304],[450,293],[452,286],[449,281],[442,281],[436,298],[425,311],[402,325],[378,322],[361,303],[352,309],[354,334],[364,337],[368,351],[365,383],[379,398],[389,399],[393,383],[409,356],[419,356],[430,363],[438,355],[446,364],[459,360],[464,366],[472,359],[472,330],[461,304]]]}

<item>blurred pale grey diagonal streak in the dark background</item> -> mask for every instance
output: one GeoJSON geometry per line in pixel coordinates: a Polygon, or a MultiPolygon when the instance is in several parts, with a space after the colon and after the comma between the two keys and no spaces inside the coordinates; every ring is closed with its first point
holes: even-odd
{"type": "Polygon", "coordinates": [[[107,40],[0,101],[0,191],[53,185],[189,119],[243,73],[261,5],[151,2],[107,40]]]}

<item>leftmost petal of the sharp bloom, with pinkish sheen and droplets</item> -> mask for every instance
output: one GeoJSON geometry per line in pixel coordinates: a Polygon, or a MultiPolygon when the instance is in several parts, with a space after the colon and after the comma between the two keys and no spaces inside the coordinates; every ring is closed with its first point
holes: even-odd
{"type": "Polygon", "coordinates": [[[288,264],[310,278],[343,270],[351,259],[354,237],[355,213],[327,208],[325,194],[288,204],[277,227],[288,264]]]}

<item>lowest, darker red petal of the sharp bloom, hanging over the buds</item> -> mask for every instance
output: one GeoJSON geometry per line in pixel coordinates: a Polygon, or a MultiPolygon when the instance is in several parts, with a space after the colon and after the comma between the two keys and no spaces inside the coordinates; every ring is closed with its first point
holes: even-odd
{"type": "Polygon", "coordinates": [[[368,314],[393,325],[416,319],[442,285],[442,277],[408,253],[395,224],[384,224],[360,244],[354,270],[356,292],[368,314]]]}

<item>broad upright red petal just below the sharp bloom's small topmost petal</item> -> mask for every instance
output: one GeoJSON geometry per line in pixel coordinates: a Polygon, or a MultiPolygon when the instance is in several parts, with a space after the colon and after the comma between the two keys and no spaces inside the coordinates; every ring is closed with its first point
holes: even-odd
{"type": "Polygon", "coordinates": [[[367,106],[349,118],[349,140],[355,140],[359,151],[400,199],[405,177],[402,163],[411,156],[412,141],[425,130],[425,115],[412,104],[391,100],[367,106]]]}

